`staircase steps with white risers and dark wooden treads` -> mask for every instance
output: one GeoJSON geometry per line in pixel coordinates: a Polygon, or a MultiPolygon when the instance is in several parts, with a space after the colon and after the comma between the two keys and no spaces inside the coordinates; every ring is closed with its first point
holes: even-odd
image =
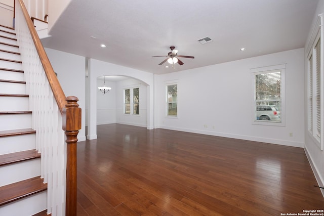
{"type": "Polygon", "coordinates": [[[0,215],[47,215],[15,30],[0,25],[0,215]]]}

